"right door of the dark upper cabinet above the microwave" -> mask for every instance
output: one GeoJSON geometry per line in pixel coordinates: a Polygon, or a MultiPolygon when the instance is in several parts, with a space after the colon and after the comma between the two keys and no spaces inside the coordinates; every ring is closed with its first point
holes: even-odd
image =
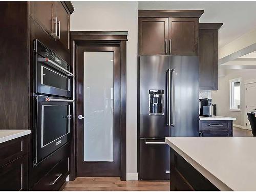
{"type": "Polygon", "coordinates": [[[62,2],[54,2],[55,7],[55,17],[58,18],[60,38],[58,39],[61,44],[69,49],[69,23],[70,23],[70,14],[66,10],[66,6],[62,2]]]}

